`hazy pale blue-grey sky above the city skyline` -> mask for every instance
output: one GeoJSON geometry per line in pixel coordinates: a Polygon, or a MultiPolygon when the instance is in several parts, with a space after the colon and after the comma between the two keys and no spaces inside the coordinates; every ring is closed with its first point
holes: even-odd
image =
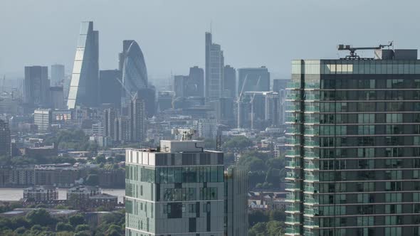
{"type": "Polygon", "coordinates": [[[117,68],[122,40],[134,39],[150,77],[187,74],[204,67],[212,21],[226,64],[287,78],[290,60],[337,58],[339,43],[419,48],[419,10],[418,0],[0,0],[0,75],[53,63],[70,71],[80,21],[100,33],[100,69],[117,68]]]}

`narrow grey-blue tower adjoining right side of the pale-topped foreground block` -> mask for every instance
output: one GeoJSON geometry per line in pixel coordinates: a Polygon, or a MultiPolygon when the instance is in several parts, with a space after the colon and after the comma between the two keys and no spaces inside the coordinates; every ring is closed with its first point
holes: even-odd
{"type": "Polygon", "coordinates": [[[248,235],[248,171],[229,167],[224,172],[225,181],[225,234],[248,235]]]}

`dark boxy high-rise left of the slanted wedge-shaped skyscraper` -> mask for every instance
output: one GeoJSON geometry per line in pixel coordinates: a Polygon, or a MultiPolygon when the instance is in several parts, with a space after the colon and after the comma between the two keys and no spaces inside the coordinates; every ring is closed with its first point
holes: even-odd
{"type": "Polygon", "coordinates": [[[36,107],[48,105],[48,93],[50,89],[48,67],[38,65],[26,66],[24,85],[23,100],[25,103],[36,107]]]}

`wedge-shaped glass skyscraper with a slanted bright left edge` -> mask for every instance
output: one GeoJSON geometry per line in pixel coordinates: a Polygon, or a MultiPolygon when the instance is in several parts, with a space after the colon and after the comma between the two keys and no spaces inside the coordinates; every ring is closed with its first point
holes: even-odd
{"type": "Polygon", "coordinates": [[[67,108],[76,105],[95,107],[99,100],[99,32],[93,30],[92,21],[80,24],[67,108]]]}

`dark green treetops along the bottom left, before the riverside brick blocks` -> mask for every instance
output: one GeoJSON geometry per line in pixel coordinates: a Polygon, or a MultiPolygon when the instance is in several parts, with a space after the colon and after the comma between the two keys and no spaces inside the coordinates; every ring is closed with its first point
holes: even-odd
{"type": "Polygon", "coordinates": [[[125,212],[105,214],[97,227],[88,225],[81,214],[53,217],[45,209],[29,212],[26,216],[0,218],[0,235],[4,236],[122,236],[125,234],[125,212]]]}

